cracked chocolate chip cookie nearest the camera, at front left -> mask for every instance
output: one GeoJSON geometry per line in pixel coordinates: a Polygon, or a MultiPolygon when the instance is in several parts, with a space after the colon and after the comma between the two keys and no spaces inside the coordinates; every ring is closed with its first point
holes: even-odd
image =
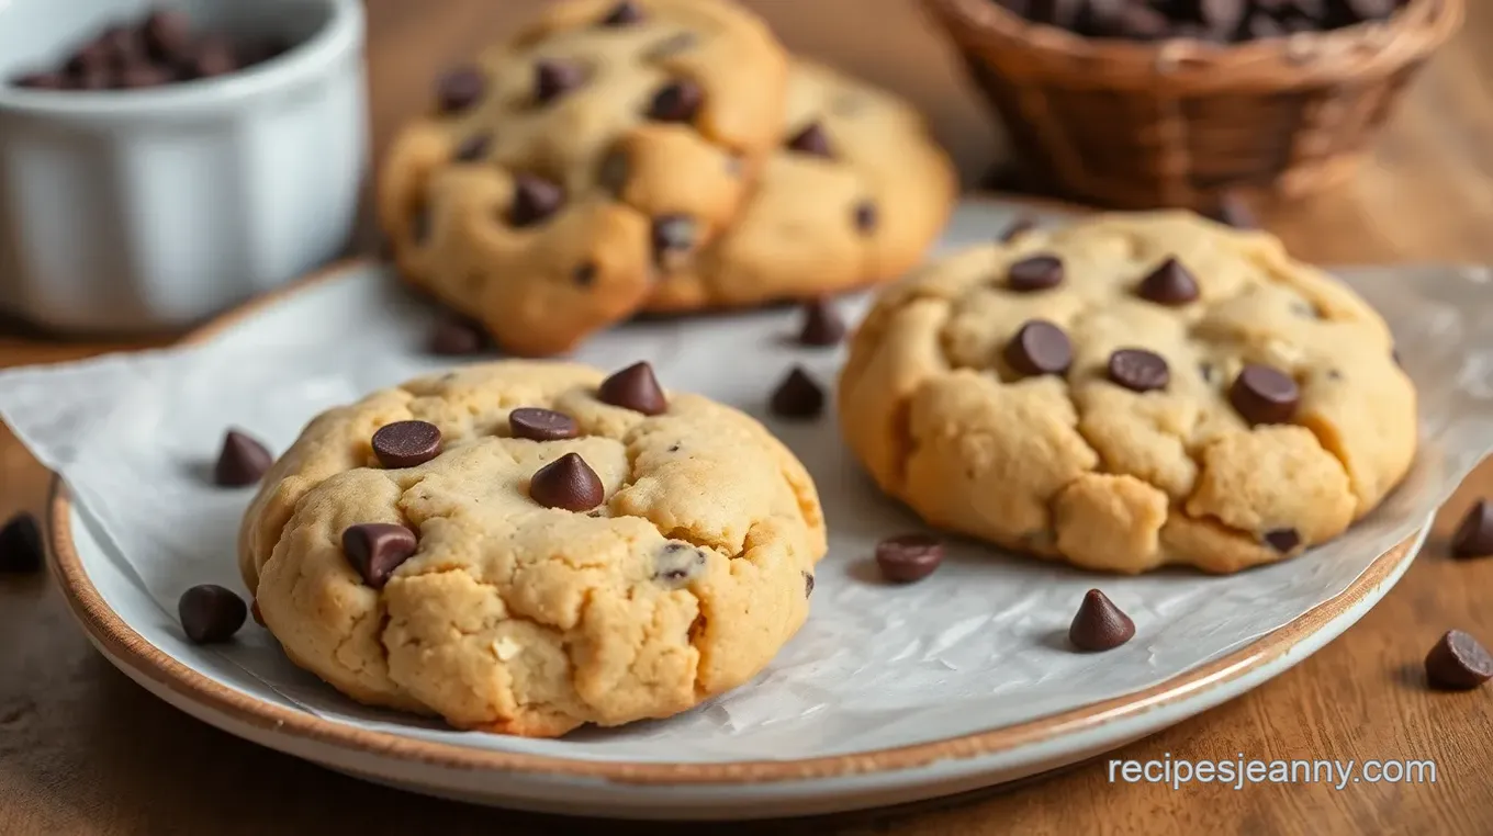
{"type": "Polygon", "coordinates": [[[363,703],[524,736],[669,717],[760,672],[809,609],[812,481],[741,412],[669,393],[645,415],[602,384],[494,363],[317,417],[239,536],[287,655],[363,703]],[[439,452],[385,467],[379,443],[411,448],[370,442],[390,425],[433,425],[439,452]],[[534,484],[570,454],[594,508],[536,502],[576,499],[534,484]]]}

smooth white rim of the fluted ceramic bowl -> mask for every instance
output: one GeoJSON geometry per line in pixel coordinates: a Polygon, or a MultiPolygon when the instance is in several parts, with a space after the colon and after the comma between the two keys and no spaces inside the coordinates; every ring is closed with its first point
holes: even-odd
{"type": "MultiPolygon", "coordinates": [[[[324,76],[349,51],[361,49],[364,12],[360,0],[299,0],[328,12],[317,31],[282,55],[224,76],[148,90],[28,90],[0,79],[0,116],[67,122],[134,122],[231,110],[324,76]]],[[[0,15],[3,16],[3,15],[0,15]]]]}

